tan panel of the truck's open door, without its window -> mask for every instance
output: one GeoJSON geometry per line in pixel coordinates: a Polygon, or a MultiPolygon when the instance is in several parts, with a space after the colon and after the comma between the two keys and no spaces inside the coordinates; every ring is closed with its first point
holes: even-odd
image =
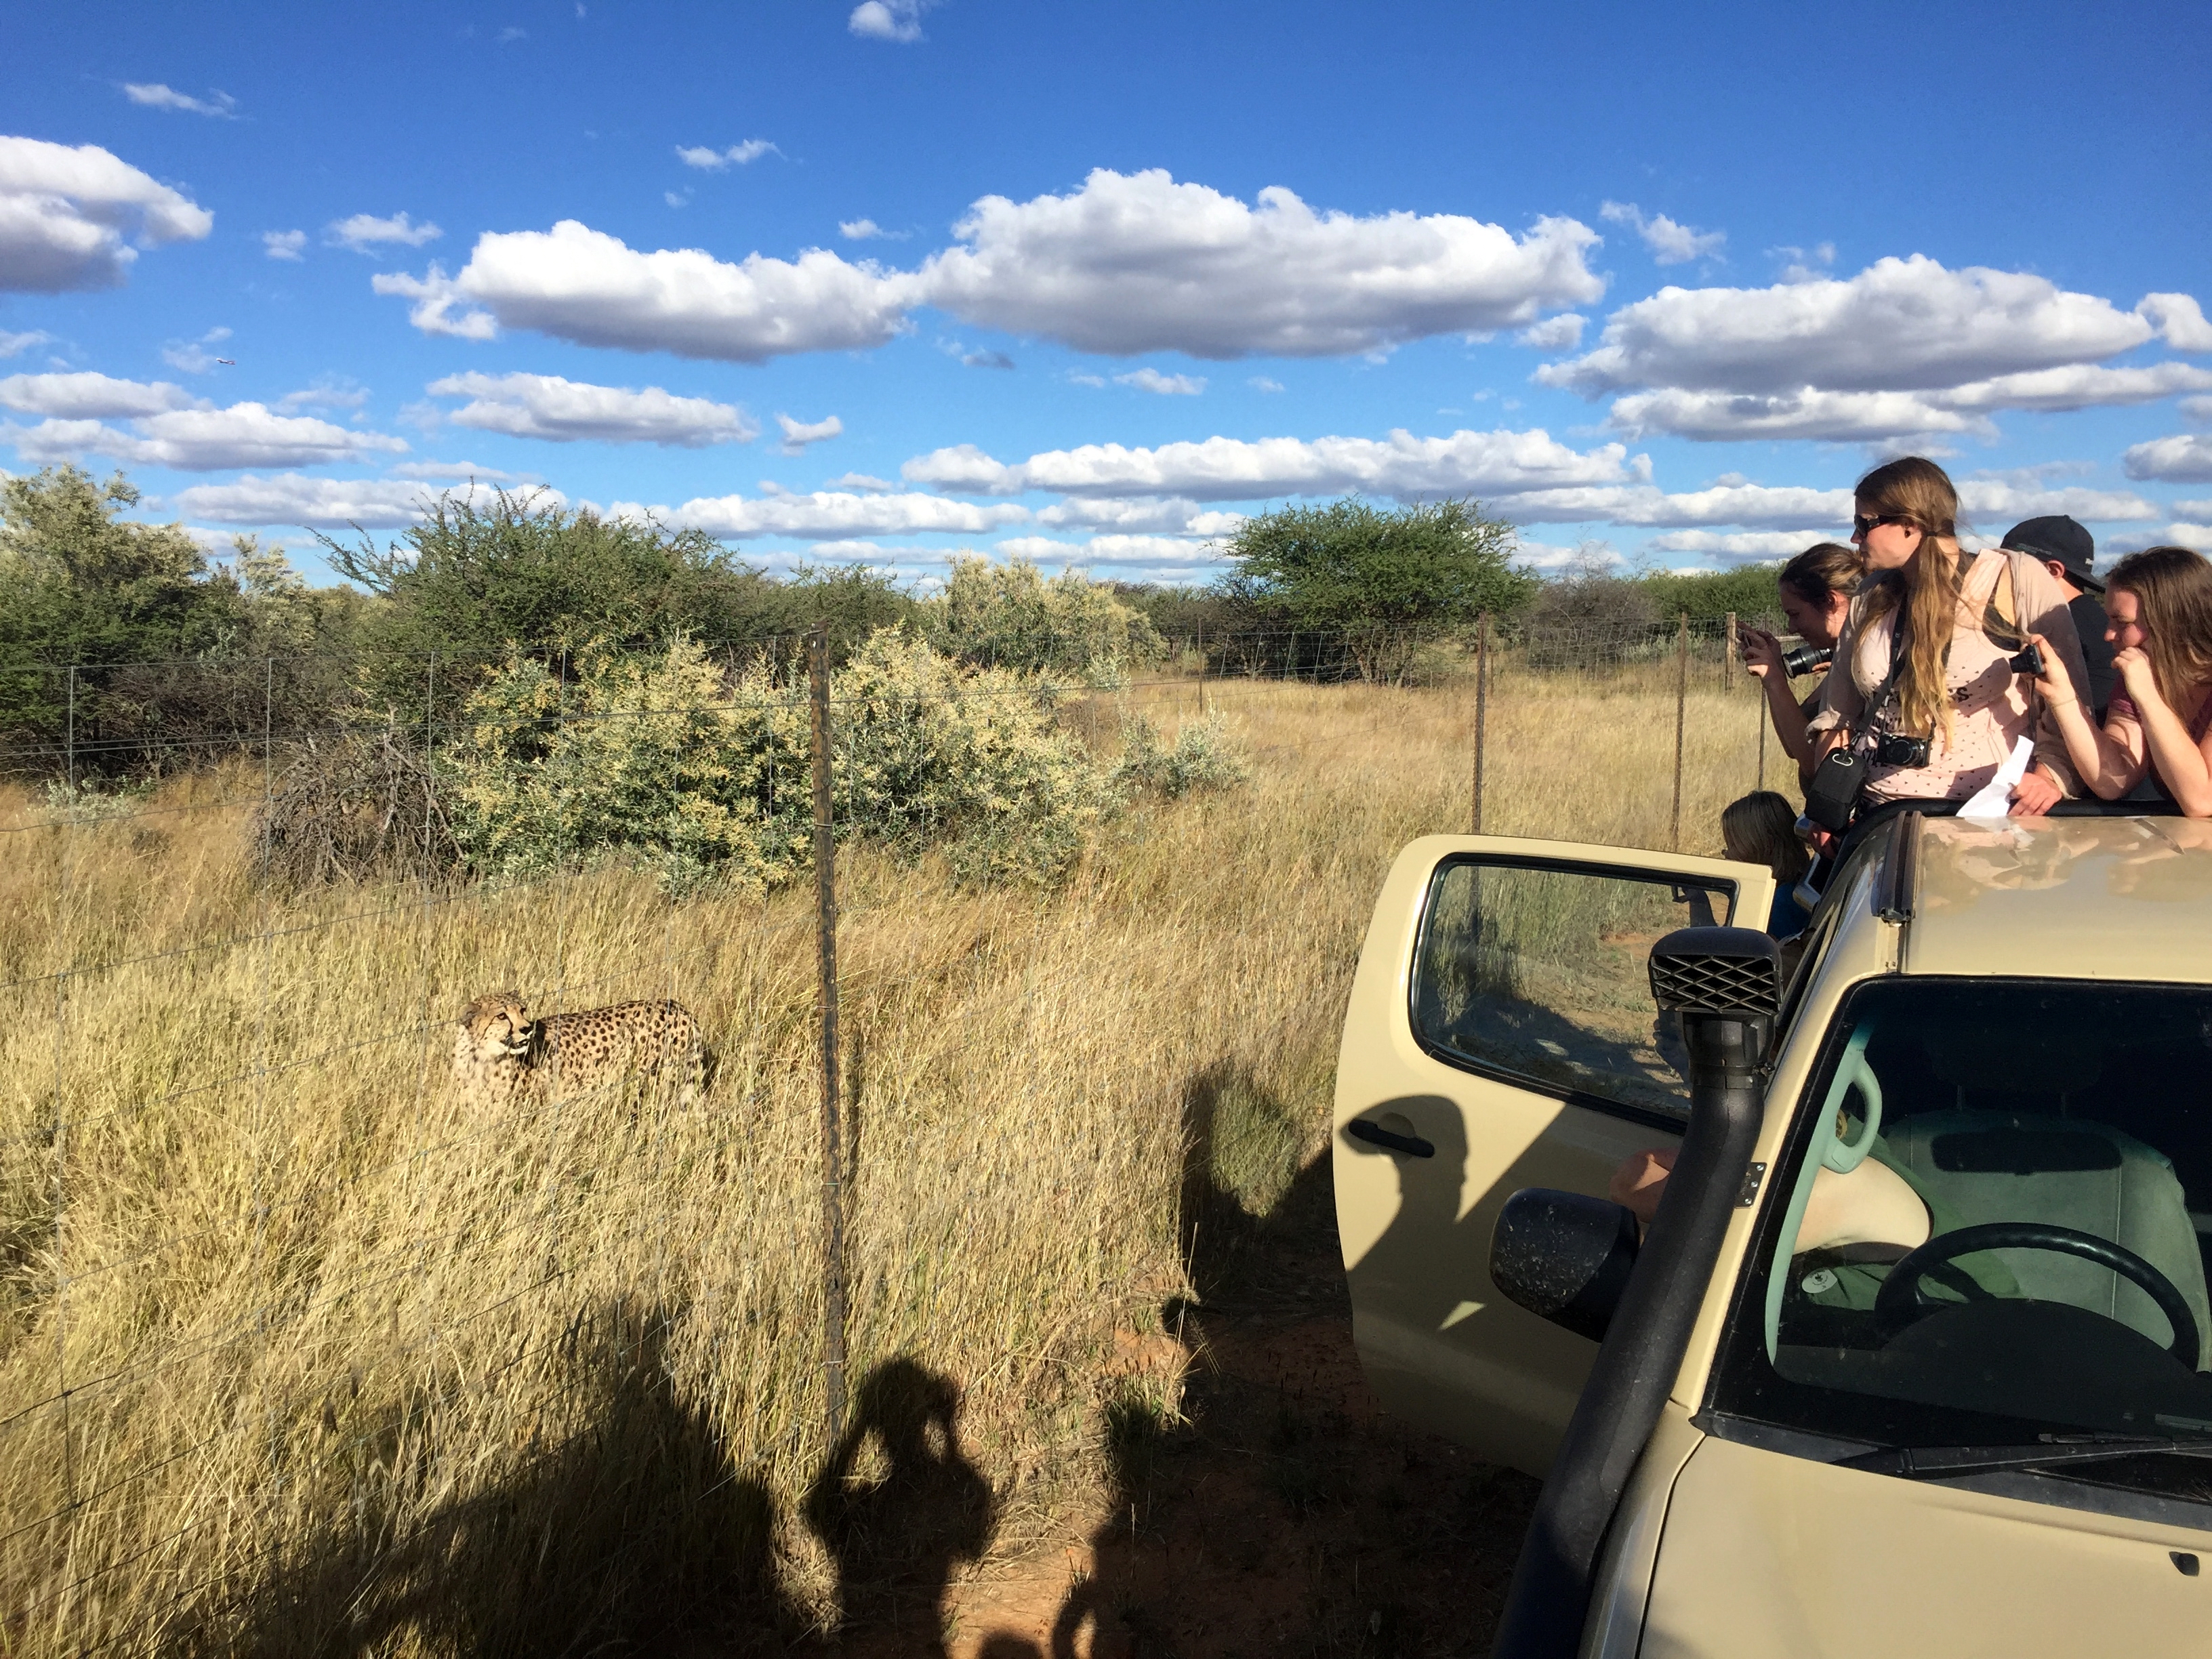
{"type": "Polygon", "coordinates": [[[1413,945],[1436,865],[1453,854],[1557,858],[1725,883],[1736,916],[1765,916],[1756,865],[1661,852],[1427,836],[1398,854],[1360,951],[1336,1062],[1336,1223],[1367,1380],[1400,1418],[1542,1475],[1597,1347],[1506,1301],[1489,1276],[1498,1208],[1524,1186],[1604,1194],[1615,1166],[1668,1130],[1475,1075],[1425,1053],[1407,1018],[1413,945]],[[1345,1135],[1354,1117],[1400,1117],[1433,1159],[1345,1135]]]}

